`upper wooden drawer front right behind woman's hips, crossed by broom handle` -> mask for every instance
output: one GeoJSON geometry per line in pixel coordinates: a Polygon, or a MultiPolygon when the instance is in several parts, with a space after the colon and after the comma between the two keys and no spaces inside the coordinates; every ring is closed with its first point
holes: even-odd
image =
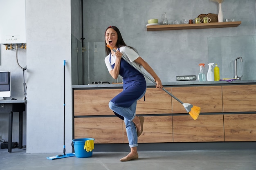
{"type": "MultiPolygon", "coordinates": [[[[166,88],[171,92],[171,87],[166,88]]],[[[136,114],[172,113],[172,98],[159,88],[147,88],[144,97],[137,101],[136,114]]]]}

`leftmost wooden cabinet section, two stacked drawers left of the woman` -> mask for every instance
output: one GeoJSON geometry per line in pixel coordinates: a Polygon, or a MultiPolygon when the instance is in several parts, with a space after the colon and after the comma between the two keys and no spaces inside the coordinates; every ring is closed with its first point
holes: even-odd
{"type": "Polygon", "coordinates": [[[122,89],[74,90],[75,139],[94,138],[95,144],[123,143],[123,121],[118,117],[102,117],[114,115],[108,103],[121,91],[122,89]]]}

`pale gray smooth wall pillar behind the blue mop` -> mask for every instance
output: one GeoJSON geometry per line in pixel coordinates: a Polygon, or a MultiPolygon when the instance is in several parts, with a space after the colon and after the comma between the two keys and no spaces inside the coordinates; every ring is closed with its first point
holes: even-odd
{"type": "Polygon", "coordinates": [[[70,0],[26,0],[27,153],[62,152],[63,60],[66,60],[66,142],[71,151],[71,5],[70,0]]]}

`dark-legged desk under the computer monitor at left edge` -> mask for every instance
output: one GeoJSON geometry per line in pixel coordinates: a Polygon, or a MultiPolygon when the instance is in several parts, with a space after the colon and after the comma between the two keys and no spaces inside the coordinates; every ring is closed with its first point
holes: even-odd
{"type": "Polygon", "coordinates": [[[19,113],[19,148],[22,148],[23,111],[26,100],[0,100],[0,113],[9,113],[8,152],[11,152],[13,112],[19,113]]]}

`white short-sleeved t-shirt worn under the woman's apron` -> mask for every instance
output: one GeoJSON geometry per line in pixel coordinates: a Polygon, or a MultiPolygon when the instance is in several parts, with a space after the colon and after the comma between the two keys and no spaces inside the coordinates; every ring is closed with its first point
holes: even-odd
{"type": "MultiPolygon", "coordinates": [[[[121,46],[119,49],[126,59],[130,60],[130,62],[132,62],[132,64],[137,66],[137,68],[140,68],[140,65],[134,62],[134,60],[136,60],[139,57],[136,51],[134,51],[128,46],[121,46]]],[[[112,65],[115,63],[115,61],[116,61],[116,55],[111,55],[111,63],[109,62],[109,55],[105,57],[105,64],[108,68],[108,72],[113,70],[112,65]]]]}

